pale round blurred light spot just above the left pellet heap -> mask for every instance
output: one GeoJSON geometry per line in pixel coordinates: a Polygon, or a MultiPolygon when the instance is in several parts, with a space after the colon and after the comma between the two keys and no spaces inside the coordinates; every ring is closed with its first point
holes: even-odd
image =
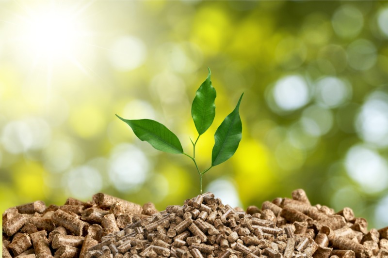
{"type": "Polygon", "coordinates": [[[72,197],[87,199],[100,192],[102,178],[99,172],[93,167],[76,167],[67,175],[67,188],[72,197]]]}

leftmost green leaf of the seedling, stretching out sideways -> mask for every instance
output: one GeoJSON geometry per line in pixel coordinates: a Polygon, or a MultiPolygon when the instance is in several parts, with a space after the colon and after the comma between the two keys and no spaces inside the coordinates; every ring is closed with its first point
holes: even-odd
{"type": "Polygon", "coordinates": [[[178,137],[160,122],[150,119],[127,120],[117,117],[126,122],[139,139],[147,141],[155,149],[175,154],[183,153],[178,137]]]}

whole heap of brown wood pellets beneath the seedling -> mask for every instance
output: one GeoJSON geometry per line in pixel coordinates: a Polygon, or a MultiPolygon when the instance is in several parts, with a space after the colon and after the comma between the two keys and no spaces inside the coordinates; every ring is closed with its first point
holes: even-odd
{"type": "Polygon", "coordinates": [[[162,212],[97,194],[8,209],[3,258],[388,258],[388,227],[367,227],[350,208],[311,206],[301,189],[246,212],[211,193],[162,212]]]}

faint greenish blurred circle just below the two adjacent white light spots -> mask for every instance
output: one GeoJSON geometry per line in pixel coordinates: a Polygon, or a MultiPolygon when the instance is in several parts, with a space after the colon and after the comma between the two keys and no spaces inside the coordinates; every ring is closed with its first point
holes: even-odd
{"type": "Polygon", "coordinates": [[[320,106],[309,106],[303,110],[301,122],[307,134],[319,137],[333,126],[333,114],[320,106]]]}

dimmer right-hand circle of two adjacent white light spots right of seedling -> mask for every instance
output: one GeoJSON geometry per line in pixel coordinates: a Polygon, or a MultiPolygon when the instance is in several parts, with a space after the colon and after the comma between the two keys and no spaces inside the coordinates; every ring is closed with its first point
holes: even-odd
{"type": "Polygon", "coordinates": [[[351,97],[351,88],[337,77],[324,77],[316,83],[318,103],[330,108],[343,104],[351,97]]]}

